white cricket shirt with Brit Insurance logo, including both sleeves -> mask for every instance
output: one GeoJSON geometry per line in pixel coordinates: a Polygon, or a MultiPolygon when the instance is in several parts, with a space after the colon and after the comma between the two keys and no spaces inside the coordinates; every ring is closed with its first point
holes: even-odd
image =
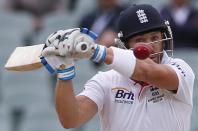
{"type": "Polygon", "coordinates": [[[79,95],[97,104],[101,131],[189,131],[195,75],[181,59],[165,54],[162,64],[177,73],[176,94],[137,83],[114,70],[99,72],[85,84],[79,95]]]}

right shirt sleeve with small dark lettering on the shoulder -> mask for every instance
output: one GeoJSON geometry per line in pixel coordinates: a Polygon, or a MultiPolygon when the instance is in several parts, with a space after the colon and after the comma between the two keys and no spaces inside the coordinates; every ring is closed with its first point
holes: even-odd
{"type": "Polygon", "coordinates": [[[191,67],[181,59],[176,59],[168,66],[175,70],[179,79],[179,87],[174,96],[184,103],[192,105],[195,75],[191,67]]]}

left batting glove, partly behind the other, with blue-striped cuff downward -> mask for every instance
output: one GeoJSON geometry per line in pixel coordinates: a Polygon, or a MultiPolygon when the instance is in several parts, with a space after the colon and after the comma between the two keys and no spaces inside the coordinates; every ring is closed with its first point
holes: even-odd
{"type": "Polygon", "coordinates": [[[57,78],[60,80],[70,80],[75,77],[73,58],[60,56],[58,47],[61,40],[67,38],[68,34],[77,34],[77,30],[78,29],[59,30],[51,34],[47,38],[42,51],[42,56],[40,57],[41,63],[50,73],[56,73],[57,78]]]}

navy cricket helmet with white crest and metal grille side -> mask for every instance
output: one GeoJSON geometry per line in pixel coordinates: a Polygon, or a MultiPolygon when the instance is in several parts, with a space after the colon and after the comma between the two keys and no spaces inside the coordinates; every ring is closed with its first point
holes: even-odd
{"type": "Polygon", "coordinates": [[[127,40],[133,36],[151,31],[161,31],[164,50],[173,50],[173,37],[169,22],[161,18],[160,13],[151,5],[132,5],[121,12],[118,19],[118,38],[126,48],[127,40]]]}

